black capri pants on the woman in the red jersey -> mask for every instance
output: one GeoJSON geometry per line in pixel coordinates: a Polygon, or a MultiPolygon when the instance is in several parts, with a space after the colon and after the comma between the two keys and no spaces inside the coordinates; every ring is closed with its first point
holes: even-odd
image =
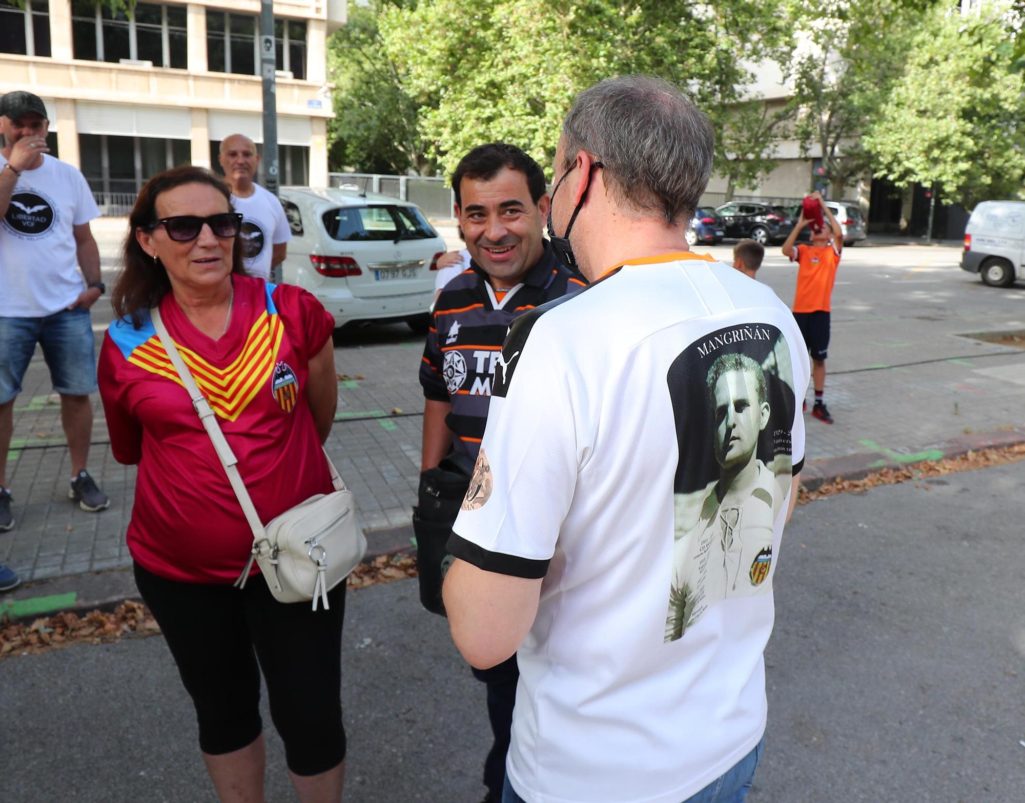
{"type": "Polygon", "coordinates": [[[309,602],[278,602],[258,575],[240,590],[166,580],[138,563],[134,568],[196,706],[204,753],[231,753],[259,736],[262,670],[288,768],[316,775],[341,762],[345,583],[328,592],[328,610],[312,610],[309,602]]]}

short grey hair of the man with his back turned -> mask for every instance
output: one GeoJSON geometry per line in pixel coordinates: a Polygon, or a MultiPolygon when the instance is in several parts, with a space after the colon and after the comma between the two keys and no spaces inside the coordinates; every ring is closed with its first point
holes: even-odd
{"type": "Polygon", "coordinates": [[[585,89],[563,123],[563,169],[580,151],[605,164],[609,192],[667,225],[694,215],[711,174],[707,116],[661,78],[607,78],[585,89]]]}

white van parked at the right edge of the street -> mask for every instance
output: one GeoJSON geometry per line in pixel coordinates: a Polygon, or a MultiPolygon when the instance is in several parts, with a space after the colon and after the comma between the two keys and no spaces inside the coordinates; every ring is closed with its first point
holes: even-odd
{"type": "Polygon", "coordinates": [[[983,201],[972,212],[965,229],[961,267],[979,273],[990,287],[1011,287],[1025,279],[1025,202],[983,201]]]}

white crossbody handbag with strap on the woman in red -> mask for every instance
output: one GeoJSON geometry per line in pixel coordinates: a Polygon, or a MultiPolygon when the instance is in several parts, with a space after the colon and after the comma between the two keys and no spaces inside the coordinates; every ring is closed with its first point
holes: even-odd
{"type": "Polygon", "coordinates": [[[167,333],[160,310],[154,307],[150,315],[167,356],[192,397],[193,408],[213,441],[224,473],[253,532],[249,561],[235,581],[236,587],[245,588],[255,560],[271,593],[279,602],[313,600],[313,609],[316,610],[318,600],[322,600],[327,608],[327,592],[348,577],[367,551],[367,539],[356,524],[353,492],[345,488],[325,452],[334,492],[316,494],[263,525],[239,474],[236,465],[239,461],[228,446],[210,404],[196,386],[189,367],[167,333]]]}

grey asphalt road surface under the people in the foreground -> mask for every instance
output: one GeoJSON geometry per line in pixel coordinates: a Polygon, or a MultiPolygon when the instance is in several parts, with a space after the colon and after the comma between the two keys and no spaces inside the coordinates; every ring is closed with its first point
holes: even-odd
{"type": "MultiPolygon", "coordinates": [[[[1018,463],[798,508],[751,803],[1022,799],[1023,482],[1018,463]]],[[[411,581],[346,606],[345,799],[480,800],[484,693],[445,623],[411,581]]],[[[160,637],[0,662],[0,711],[5,803],[214,800],[160,637]]],[[[269,800],[294,800],[269,753],[269,800]]]]}

